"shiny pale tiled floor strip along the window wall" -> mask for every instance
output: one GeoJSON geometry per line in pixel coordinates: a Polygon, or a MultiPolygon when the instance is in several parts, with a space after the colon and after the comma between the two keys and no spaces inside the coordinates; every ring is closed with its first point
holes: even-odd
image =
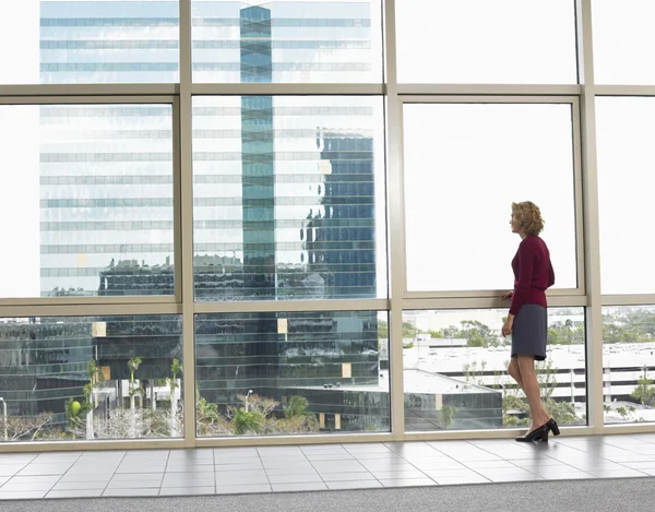
{"type": "Polygon", "coordinates": [[[0,453],[0,499],[186,496],[655,476],[655,433],[134,452],[0,453]]]}

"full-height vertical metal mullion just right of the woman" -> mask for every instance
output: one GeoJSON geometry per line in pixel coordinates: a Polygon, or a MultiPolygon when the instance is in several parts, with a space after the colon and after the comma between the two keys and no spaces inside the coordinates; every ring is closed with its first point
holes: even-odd
{"type": "Polygon", "coordinates": [[[594,433],[604,431],[603,408],[603,301],[600,295],[600,229],[596,154],[596,105],[592,33],[592,0],[576,0],[579,75],[581,96],[581,146],[584,199],[584,247],[587,293],[587,420],[594,433]]]}

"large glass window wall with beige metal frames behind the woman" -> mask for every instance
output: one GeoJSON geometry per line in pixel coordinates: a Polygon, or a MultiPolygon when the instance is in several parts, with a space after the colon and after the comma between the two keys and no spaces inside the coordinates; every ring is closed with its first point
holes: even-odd
{"type": "Polygon", "coordinates": [[[0,451],[514,436],[525,200],[548,408],[651,428],[653,9],[454,3],[8,5],[0,451]]]}

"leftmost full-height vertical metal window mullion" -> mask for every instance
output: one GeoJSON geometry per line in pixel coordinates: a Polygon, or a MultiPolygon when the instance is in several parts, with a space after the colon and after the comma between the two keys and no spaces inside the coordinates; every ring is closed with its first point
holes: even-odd
{"type": "Polygon", "coordinates": [[[191,0],[180,0],[180,243],[184,445],[195,446],[195,349],[193,311],[193,153],[191,97],[191,0]]]}

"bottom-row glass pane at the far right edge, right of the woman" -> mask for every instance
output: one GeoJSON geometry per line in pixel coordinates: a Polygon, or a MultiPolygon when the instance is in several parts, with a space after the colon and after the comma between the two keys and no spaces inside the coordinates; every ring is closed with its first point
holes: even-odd
{"type": "Polygon", "coordinates": [[[655,306],[603,308],[606,424],[655,421],[655,306]]]}

